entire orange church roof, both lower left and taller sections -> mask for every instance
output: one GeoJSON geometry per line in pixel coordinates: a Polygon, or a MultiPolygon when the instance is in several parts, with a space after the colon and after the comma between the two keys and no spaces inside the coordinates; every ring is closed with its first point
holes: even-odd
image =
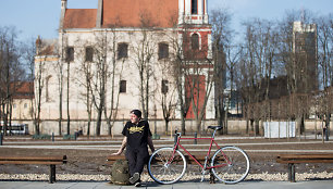
{"type": "MultiPolygon", "coordinates": [[[[64,28],[94,28],[97,9],[66,9],[64,28]]],[[[101,27],[173,27],[178,0],[103,0],[101,27]]]]}

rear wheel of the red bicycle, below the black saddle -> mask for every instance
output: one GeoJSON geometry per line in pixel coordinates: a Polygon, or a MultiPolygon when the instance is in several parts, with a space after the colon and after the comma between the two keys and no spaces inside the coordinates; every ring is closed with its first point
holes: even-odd
{"type": "Polygon", "coordinates": [[[237,147],[219,149],[211,158],[212,173],[225,184],[236,184],[245,179],[249,172],[249,159],[237,147]]]}

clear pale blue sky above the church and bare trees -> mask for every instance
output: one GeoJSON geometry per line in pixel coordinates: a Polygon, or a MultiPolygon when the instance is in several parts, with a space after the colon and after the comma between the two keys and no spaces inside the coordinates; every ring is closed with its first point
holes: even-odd
{"type": "MultiPolygon", "coordinates": [[[[135,1],[135,0],[134,0],[135,1]]],[[[98,0],[69,0],[70,9],[96,9],[98,0]]],[[[15,26],[21,39],[57,38],[61,0],[0,0],[0,26],[15,26]]],[[[209,11],[227,8],[233,27],[247,18],[281,18],[287,10],[310,10],[314,14],[333,13],[333,0],[208,0],[209,11]]]]}

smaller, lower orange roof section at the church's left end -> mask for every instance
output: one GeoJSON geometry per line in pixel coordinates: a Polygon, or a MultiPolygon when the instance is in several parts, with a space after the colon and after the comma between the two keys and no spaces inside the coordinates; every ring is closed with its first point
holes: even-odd
{"type": "Polygon", "coordinates": [[[97,9],[67,9],[64,28],[94,28],[96,26],[97,9]]]}

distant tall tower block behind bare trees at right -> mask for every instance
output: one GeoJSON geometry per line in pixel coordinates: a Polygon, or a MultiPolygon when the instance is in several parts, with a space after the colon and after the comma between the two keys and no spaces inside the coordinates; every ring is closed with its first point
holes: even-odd
{"type": "Polygon", "coordinates": [[[296,92],[318,90],[317,25],[294,22],[293,25],[294,79],[296,92]]]}

